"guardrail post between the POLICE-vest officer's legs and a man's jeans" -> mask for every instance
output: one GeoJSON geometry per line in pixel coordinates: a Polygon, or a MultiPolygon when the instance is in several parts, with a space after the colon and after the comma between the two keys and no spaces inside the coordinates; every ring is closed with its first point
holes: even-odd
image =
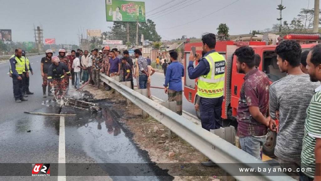
{"type": "MultiPolygon", "coordinates": [[[[212,133],[215,135],[219,136],[220,138],[226,140],[227,142],[235,145],[235,128],[234,126],[229,126],[225,128],[220,128],[220,129],[211,129],[210,130],[212,133]]],[[[226,173],[224,171],[223,173],[223,181],[235,181],[235,178],[230,176],[230,174],[226,173]]]]}

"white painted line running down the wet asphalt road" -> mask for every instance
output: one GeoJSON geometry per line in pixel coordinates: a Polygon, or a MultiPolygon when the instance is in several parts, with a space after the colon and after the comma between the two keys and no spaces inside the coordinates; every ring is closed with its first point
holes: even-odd
{"type": "Polygon", "coordinates": [[[58,181],[66,181],[65,117],[60,117],[58,147],[58,181]]]}

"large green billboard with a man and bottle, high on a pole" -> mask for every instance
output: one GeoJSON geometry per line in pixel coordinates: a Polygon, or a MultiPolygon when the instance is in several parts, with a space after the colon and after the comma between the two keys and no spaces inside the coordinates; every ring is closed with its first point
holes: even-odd
{"type": "Polygon", "coordinates": [[[106,0],[106,20],[145,22],[145,2],[106,0]]]}

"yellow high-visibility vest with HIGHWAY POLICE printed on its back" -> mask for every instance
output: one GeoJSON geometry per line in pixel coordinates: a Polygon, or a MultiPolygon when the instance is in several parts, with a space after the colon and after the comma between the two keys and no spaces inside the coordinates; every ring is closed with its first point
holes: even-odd
{"type": "Polygon", "coordinates": [[[198,78],[197,95],[202,98],[220,98],[224,95],[225,58],[218,52],[204,58],[210,65],[210,71],[198,78]]]}

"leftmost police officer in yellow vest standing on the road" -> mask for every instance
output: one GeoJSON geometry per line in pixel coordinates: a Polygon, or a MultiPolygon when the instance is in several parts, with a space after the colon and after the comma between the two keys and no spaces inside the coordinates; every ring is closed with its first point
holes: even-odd
{"type": "Polygon", "coordinates": [[[16,102],[20,103],[26,101],[22,96],[23,88],[23,71],[26,72],[26,76],[29,77],[29,70],[27,69],[26,64],[24,63],[24,58],[22,58],[22,50],[16,49],[14,55],[10,58],[10,73],[12,75],[13,82],[13,95],[16,102]]]}

